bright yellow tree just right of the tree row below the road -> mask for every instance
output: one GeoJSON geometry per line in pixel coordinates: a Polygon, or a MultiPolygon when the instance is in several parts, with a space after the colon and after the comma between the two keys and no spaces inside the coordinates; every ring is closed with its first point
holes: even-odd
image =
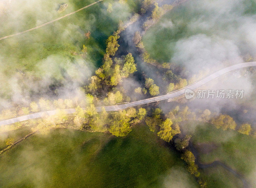
{"type": "Polygon", "coordinates": [[[175,134],[180,133],[180,127],[176,126],[175,129],[172,129],[172,120],[167,118],[161,125],[160,125],[160,131],[157,133],[157,135],[167,141],[170,142],[175,134]]]}

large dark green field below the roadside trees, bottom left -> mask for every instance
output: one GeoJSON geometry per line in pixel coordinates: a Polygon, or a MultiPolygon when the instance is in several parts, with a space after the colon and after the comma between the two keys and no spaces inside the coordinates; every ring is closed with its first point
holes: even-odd
{"type": "Polygon", "coordinates": [[[0,156],[1,187],[197,187],[180,154],[147,126],[127,137],[53,130],[0,156]]]}

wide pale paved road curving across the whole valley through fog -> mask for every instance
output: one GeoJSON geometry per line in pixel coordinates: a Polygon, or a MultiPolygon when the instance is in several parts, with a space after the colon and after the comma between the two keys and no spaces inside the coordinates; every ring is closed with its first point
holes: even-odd
{"type": "MultiPolygon", "coordinates": [[[[105,106],[105,109],[106,109],[106,111],[117,111],[120,109],[126,109],[128,107],[138,106],[141,104],[148,104],[150,102],[162,101],[162,100],[178,97],[182,94],[185,94],[186,89],[194,90],[197,87],[202,86],[202,85],[206,84],[207,82],[211,81],[212,79],[215,79],[223,74],[226,74],[227,72],[234,71],[236,69],[240,69],[240,68],[244,68],[244,67],[250,67],[250,66],[256,66],[256,62],[247,62],[247,63],[235,64],[235,65],[226,67],[224,69],[221,69],[220,71],[217,71],[217,72],[211,74],[210,76],[207,76],[206,78],[204,78],[194,84],[191,84],[189,86],[183,87],[182,89],[173,91],[172,93],[168,93],[165,95],[156,96],[156,97],[152,97],[152,98],[148,98],[148,99],[143,99],[140,101],[130,102],[130,103],[126,103],[126,104],[105,106]]],[[[97,107],[97,111],[100,111],[100,109],[101,109],[101,107],[97,107]]],[[[65,109],[65,110],[66,110],[67,114],[72,114],[75,112],[75,109],[65,109]]],[[[16,123],[16,122],[20,122],[20,121],[25,121],[25,120],[29,120],[29,119],[35,119],[38,117],[42,117],[42,115],[44,115],[44,114],[54,115],[55,113],[56,113],[56,110],[51,110],[51,111],[46,111],[46,112],[38,112],[35,114],[29,114],[29,115],[25,115],[25,116],[15,117],[12,119],[0,121],[0,126],[16,123]]]]}

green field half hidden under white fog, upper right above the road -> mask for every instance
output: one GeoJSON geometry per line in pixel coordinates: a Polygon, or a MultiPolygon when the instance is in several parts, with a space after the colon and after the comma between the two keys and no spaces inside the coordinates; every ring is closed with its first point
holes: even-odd
{"type": "MultiPolygon", "coordinates": [[[[254,49],[253,38],[244,37],[244,28],[248,16],[255,16],[255,10],[252,0],[187,1],[160,18],[146,31],[142,41],[150,56],[160,63],[191,63],[191,68],[202,68],[198,62],[225,61],[236,56],[236,50],[243,54],[254,49]],[[220,56],[222,51],[227,55],[220,56]]],[[[250,23],[255,24],[255,20],[250,23]]]]}

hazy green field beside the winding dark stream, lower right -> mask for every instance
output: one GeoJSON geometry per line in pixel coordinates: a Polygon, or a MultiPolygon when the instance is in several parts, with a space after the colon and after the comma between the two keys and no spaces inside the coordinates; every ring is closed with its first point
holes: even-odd
{"type": "MultiPolygon", "coordinates": [[[[234,130],[223,131],[212,124],[201,122],[187,122],[181,127],[186,134],[192,135],[191,140],[199,152],[201,163],[208,164],[216,160],[220,161],[242,174],[250,184],[256,185],[253,180],[256,168],[256,139],[253,136],[243,135],[234,130]]],[[[227,170],[224,171],[228,173],[227,170]]],[[[213,172],[209,169],[205,171],[208,178],[213,176],[215,179],[219,179],[216,181],[211,179],[210,182],[227,182],[225,180],[226,175],[220,176],[217,172],[214,169],[213,172]]],[[[231,175],[229,173],[229,176],[231,175]]],[[[231,177],[227,179],[232,179],[231,177]]],[[[234,176],[233,179],[238,181],[234,176]]]]}

